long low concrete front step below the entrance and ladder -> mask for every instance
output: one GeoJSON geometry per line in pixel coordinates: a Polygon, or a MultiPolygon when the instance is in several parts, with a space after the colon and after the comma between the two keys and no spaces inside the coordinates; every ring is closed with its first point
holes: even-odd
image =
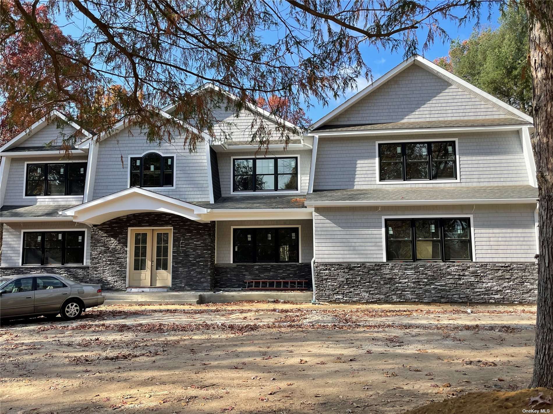
{"type": "Polygon", "coordinates": [[[213,292],[123,292],[103,291],[105,305],[132,305],[132,304],[202,304],[228,303],[244,300],[283,300],[290,302],[311,302],[310,291],[225,291],[213,292]]]}

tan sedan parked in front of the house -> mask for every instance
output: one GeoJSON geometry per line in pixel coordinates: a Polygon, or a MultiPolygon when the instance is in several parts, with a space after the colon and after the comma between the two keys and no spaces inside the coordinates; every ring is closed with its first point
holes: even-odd
{"type": "Polygon", "coordinates": [[[103,304],[102,287],[79,283],[57,274],[28,274],[0,278],[0,317],[77,319],[88,307],[103,304]]]}

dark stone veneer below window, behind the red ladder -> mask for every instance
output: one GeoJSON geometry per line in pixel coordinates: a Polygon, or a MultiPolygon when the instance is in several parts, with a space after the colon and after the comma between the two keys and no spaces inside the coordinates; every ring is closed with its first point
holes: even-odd
{"type": "Polygon", "coordinates": [[[242,289],[244,280],[307,280],[311,289],[311,263],[233,263],[215,265],[215,289],[242,289]]]}

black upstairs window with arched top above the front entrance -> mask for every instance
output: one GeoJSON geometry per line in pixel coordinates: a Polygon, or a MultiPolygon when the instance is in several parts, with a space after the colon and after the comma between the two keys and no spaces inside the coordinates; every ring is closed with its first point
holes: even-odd
{"type": "Polygon", "coordinates": [[[175,157],[149,152],[131,158],[131,187],[173,187],[175,157]]]}

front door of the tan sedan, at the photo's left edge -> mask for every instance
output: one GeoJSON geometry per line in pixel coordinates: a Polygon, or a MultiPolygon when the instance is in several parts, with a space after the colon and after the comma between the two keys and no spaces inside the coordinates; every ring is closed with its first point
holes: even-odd
{"type": "Polygon", "coordinates": [[[34,313],[34,278],[18,278],[2,288],[0,316],[23,316],[34,313]]]}

